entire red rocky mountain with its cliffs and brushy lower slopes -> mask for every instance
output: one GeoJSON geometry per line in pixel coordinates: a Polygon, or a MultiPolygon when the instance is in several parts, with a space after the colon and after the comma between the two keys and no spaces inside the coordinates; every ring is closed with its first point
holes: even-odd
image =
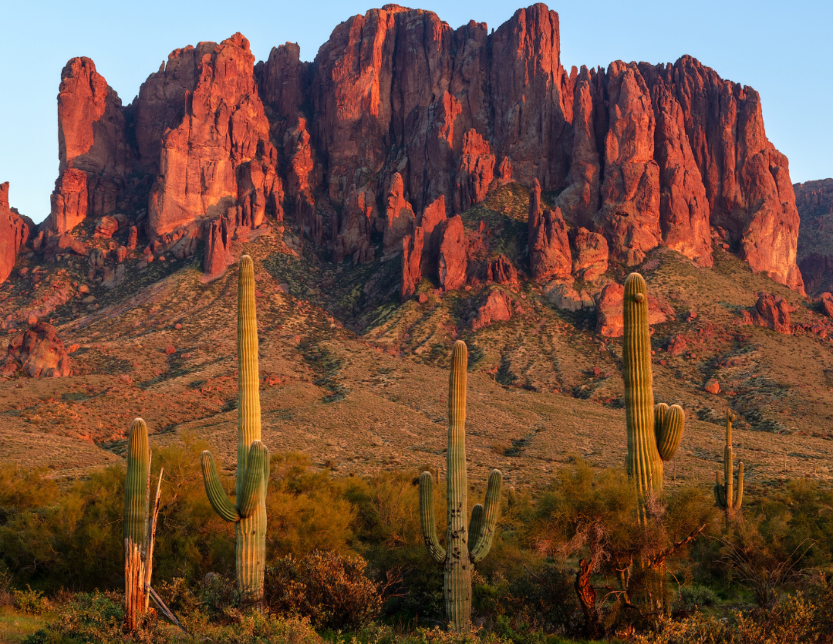
{"type": "Polygon", "coordinates": [[[73,58],[57,102],[50,216],[36,227],[0,189],[8,445],[25,444],[19,417],[88,463],[137,413],[177,436],[225,427],[220,320],[245,251],[276,447],[318,441],[326,420],[322,461],[350,432],[402,461],[442,407],[407,382],[441,382],[465,337],[478,395],[505,406],[481,409],[504,427],[482,459],[534,452],[531,472],[556,443],[585,450],[533,449],[530,423],[569,409],[594,444],[588,427],[616,426],[621,282],[636,269],[657,381],[701,437],[730,406],[739,431],[816,427],[826,453],[830,423],[804,387],[833,373],[833,299],[804,295],[805,279],[830,290],[833,260],[808,260],[796,195],[822,231],[831,191],[794,187],[758,94],[693,57],[567,72],[543,4],[491,32],[386,5],[338,25],[312,62],[287,43],[256,64],[241,34],[177,49],[127,106],[73,58]]]}

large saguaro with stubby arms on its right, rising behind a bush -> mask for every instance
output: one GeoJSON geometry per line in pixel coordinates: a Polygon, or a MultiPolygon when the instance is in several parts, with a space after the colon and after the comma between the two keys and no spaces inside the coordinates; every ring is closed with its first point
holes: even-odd
{"type": "Polygon", "coordinates": [[[639,273],[625,281],[625,337],[622,362],[627,422],[626,471],[641,498],[662,490],[662,462],[680,447],[685,413],[679,405],[654,406],[648,292],[639,273]]]}

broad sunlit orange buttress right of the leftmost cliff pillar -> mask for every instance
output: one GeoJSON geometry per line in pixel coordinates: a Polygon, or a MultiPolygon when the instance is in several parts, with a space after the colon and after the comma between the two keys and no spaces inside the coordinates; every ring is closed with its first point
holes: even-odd
{"type": "MultiPolygon", "coordinates": [[[[277,150],[257,96],[249,42],[237,33],[218,45],[203,42],[195,53],[193,48],[172,52],[167,67],[152,74],[139,94],[141,103],[142,96],[164,92],[159,87],[180,72],[191,81],[183,83],[187,93],[181,121],[160,137],[147,213],[152,236],[238,207],[242,221],[256,227],[267,208],[276,215],[282,203],[277,150]]],[[[152,156],[153,146],[146,147],[152,156]]]]}

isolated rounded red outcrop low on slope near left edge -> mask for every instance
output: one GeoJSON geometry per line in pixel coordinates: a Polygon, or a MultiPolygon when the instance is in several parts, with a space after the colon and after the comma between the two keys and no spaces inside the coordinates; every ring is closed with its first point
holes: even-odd
{"type": "Polygon", "coordinates": [[[11,376],[22,368],[31,377],[61,377],[71,373],[69,355],[55,327],[37,322],[17,333],[8,344],[0,375],[11,376]]]}

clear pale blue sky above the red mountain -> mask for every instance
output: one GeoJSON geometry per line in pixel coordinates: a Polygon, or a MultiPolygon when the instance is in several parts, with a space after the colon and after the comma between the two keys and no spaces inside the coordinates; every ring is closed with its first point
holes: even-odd
{"type": "MultiPolygon", "coordinates": [[[[11,2],[2,7],[0,182],[40,222],[57,177],[57,88],[74,56],[91,57],[127,104],[168,52],[242,32],[258,60],[297,42],[312,60],[333,27],[381,6],[368,0],[269,2],[11,2]]],[[[498,27],[520,0],[424,0],[451,27],[498,27]]],[[[596,0],[551,2],[561,17],[561,62],[674,62],[691,54],[761,93],[766,133],[790,159],[793,182],[833,177],[831,0],[596,0]]]]}

